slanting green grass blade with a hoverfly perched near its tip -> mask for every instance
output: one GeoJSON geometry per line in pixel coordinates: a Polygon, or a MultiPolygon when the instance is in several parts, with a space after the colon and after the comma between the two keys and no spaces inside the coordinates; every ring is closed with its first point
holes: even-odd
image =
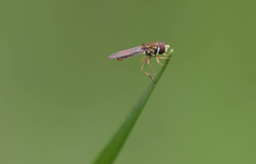
{"type": "MultiPolygon", "coordinates": [[[[172,54],[173,54],[173,50],[170,51],[170,55],[168,57],[172,57],[172,54]]],[[[156,77],[155,77],[156,84],[157,84],[158,80],[161,78],[161,76],[163,75],[163,72],[164,72],[167,64],[169,63],[169,61],[170,60],[165,61],[162,69],[156,75],[156,77]]],[[[150,86],[148,86],[145,93],[142,94],[142,96],[140,97],[138,102],[135,103],[129,116],[125,119],[124,123],[122,124],[122,126],[120,126],[118,131],[116,131],[113,138],[111,138],[111,140],[109,140],[108,145],[106,145],[106,147],[104,147],[104,149],[99,154],[99,156],[96,158],[96,160],[93,162],[93,164],[113,163],[117,154],[120,152],[120,149],[124,145],[125,140],[129,136],[129,133],[131,132],[138,117],[140,116],[140,113],[143,110],[143,107],[145,106],[145,104],[147,103],[148,98],[149,98],[150,94],[152,93],[154,87],[155,87],[154,83],[152,82],[152,84],[150,84],[150,86]]]]}

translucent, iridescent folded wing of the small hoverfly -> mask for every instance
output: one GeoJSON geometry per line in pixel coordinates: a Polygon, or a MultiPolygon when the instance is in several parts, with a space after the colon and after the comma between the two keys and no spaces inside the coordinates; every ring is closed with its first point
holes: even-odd
{"type": "Polygon", "coordinates": [[[143,52],[147,51],[148,48],[143,48],[141,46],[129,48],[127,50],[122,50],[120,52],[116,52],[115,54],[112,54],[109,56],[109,59],[125,59],[127,57],[136,56],[138,54],[143,54],[143,52]]]}

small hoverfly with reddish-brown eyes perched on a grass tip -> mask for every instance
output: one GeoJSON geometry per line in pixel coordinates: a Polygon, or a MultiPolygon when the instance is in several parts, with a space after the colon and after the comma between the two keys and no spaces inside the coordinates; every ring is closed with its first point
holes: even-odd
{"type": "Polygon", "coordinates": [[[153,80],[154,84],[156,85],[156,82],[155,82],[154,78],[152,77],[152,75],[143,71],[143,67],[145,66],[146,63],[148,63],[149,66],[154,71],[154,68],[150,64],[150,61],[149,61],[151,57],[156,57],[157,63],[159,63],[161,66],[163,66],[163,64],[160,63],[159,59],[170,59],[170,58],[161,57],[159,55],[163,54],[164,56],[168,56],[164,52],[166,52],[169,47],[170,46],[165,45],[163,41],[148,42],[148,43],[144,43],[143,45],[140,45],[138,47],[133,47],[133,48],[129,48],[127,50],[122,50],[120,52],[116,52],[115,54],[112,54],[108,58],[109,59],[117,59],[118,61],[122,61],[124,59],[127,59],[132,56],[136,56],[138,54],[145,54],[146,56],[141,59],[141,62],[143,62],[143,64],[142,64],[140,70],[143,73],[145,73],[146,75],[148,75],[153,80]]]}

